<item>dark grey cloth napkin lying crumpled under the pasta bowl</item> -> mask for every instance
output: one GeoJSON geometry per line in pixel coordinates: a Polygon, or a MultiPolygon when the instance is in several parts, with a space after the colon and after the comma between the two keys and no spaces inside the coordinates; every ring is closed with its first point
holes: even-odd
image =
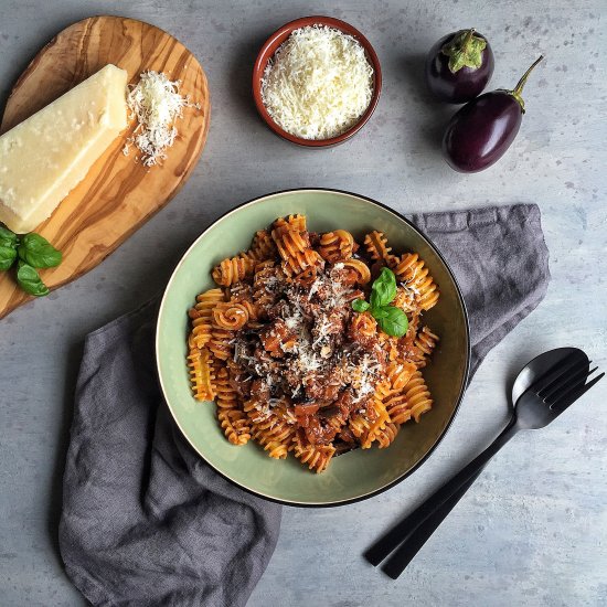
{"type": "MultiPolygon", "coordinates": [[[[472,373],[542,300],[549,252],[534,204],[411,219],[443,252],[470,316],[472,373]]],[[[215,473],[156,381],[158,300],[86,338],[63,480],[60,546],[94,605],[244,605],[281,507],[215,473]]]]}

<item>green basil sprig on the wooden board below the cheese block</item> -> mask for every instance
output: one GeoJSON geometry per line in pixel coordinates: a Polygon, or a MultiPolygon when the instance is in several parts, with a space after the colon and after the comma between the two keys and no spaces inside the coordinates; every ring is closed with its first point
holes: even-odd
{"type": "Polygon", "coordinates": [[[62,260],[57,251],[46,238],[31,232],[21,238],[0,225],[0,270],[8,270],[17,262],[17,283],[29,295],[49,295],[35,268],[58,266],[62,260]]]}

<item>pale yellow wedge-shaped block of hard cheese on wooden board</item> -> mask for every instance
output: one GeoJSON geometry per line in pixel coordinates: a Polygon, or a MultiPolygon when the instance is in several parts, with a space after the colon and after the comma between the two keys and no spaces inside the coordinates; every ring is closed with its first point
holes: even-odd
{"type": "Polygon", "coordinates": [[[126,128],[126,86],[106,65],[0,137],[0,222],[25,233],[51,215],[126,128]]]}

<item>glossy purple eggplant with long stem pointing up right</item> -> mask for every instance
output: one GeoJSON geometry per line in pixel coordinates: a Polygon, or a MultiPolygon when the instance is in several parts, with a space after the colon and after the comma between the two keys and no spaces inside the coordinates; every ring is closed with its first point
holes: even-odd
{"type": "Polygon", "coordinates": [[[476,173],[504,155],[519,132],[525,111],[523,86],[543,58],[540,56],[533,63],[513,90],[486,93],[454,115],[443,138],[443,155],[451,169],[476,173]]]}

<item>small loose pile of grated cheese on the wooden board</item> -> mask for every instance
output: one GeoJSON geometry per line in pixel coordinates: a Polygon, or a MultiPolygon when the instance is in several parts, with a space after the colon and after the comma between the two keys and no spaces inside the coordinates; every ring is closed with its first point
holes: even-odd
{"type": "Polygon", "coordinates": [[[166,74],[150,70],[140,75],[137,85],[129,86],[129,119],[137,117],[137,127],[123,148],[125,156],[129,153],[129,146],[135,145],[146,167],[153,167],[167,158],[167,148],[174,143],[178,135],[175,120],[183,117],[183,108],[200,109],[200,104],[179,94],[179,81],[171,82],[166,74]]]}

